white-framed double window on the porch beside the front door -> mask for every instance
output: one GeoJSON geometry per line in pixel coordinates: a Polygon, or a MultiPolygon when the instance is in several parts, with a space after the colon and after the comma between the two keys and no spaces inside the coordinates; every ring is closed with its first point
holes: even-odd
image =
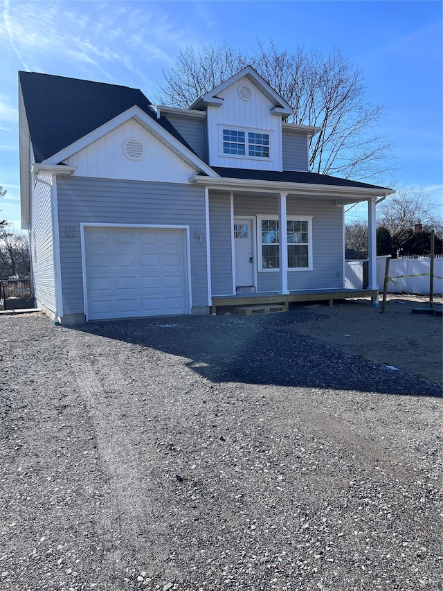
{"type": "MultiPolygon", "coordinates": [[[[259,270],[280,268],[280,232],[277,218],[260,218],[259,270]]],[[[311,218],[287,220],[288,269],[309,270],[312,267],[311,218]]]]}

